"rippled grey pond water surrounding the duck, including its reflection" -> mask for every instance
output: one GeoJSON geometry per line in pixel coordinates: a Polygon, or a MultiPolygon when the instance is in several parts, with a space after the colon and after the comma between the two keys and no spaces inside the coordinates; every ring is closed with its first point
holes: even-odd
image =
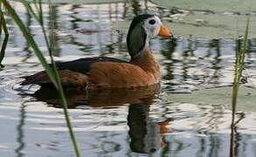
{"type": "MultiPolygon", "coordinates": [[[[47,55],[39,25],[21,3],[11,5],[47,55]]],[[[188,14],[188,10],[163,8],[161,2],[55,3],[43,4],[43,10],[47,30],[54,37],[56,60],[95,56],[129,59],[126,29],[135,15],[145,11],[160,15],[177,37],[151,42],[162,68],[161,86],[66,92],[83,156],[230,156],[230,92],[239,40],[202,38],[205,33],[194,29],[192,36],[183,35],[177,25],[186,28],[186,23],[172,23],[166,17],[188,14]]],[[[197,12],[192,14],[197,16],[197,12]]],[[[23,80],[20,77],[40,71],[42,66],[10,17],[7,23],[10,39],[5,67],[0,71],[0,155],[74,156],[56,93],[37,85],[18,85],[23,80]]],[[[194,26],[200,30],[200,25],[194,26]]],[[[255,52],[256,40],[252,38],[243,74],[247,83],[239,97],[243,107],[236,115],[239,123],[232,147],[241,157],[256,156],[255,52]]]]}

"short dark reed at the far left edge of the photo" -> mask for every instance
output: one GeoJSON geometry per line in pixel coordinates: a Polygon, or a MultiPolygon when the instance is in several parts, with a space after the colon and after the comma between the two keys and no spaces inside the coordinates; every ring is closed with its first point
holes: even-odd
{"type": "Polygon", "coordinates": [[[2,4],[0,3],[0,37],[2,35],[2,31],[4,32],[4,38],[3,38],[3,44],[0,51],[0,70],[4,67],[4,65],[2,64],[2,61],[5,55],[5,49],[9,39],[9,32],[7,29],[5,17],[3,15],[3,7],[2,7],[2,4]]]}

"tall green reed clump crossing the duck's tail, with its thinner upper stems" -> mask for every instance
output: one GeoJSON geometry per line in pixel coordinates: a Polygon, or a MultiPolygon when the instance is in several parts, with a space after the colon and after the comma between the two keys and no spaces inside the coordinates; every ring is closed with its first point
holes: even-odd
{"type": "Polygon", "coordinates": [[[53,47],[53,44],[50,43],[51,37],[49,39],[46,35],[41,1],[40,0],[39,1],[37,1],[37,0],[33,1],[35,10],[32,9],[31,3],[27,3],[25,1],[22,1],[22,3],[24,4],[25,9],[32,15],[32,17],[34,17],[38,21],[38,24],[40,24],[40,26],[42,28],[44,38],[45,38],[45,43],[46,43],[47,49],[49,51],[49,56],[51,58],[51,62],[52,62],[52,65],[53,65],[52,67],[47,64],[46,59],[45,59],[42,51],[38,48],[38,44],[36,43],[33,36],[31,35],[31,32],[24,25],[24,23],[20,19],[20,17],[17,16],[16,11],[13,10],[13,8],[10,6],[10,3],[8,3],[6,0],[0,0],[0,2],[1,1],[3,3],[4,8],[8,11],[12,20],[14,20],[16,22],[19,29],[23,32],[24,38],[26,38],[27,42],[30,44],[31,48],[33,49],[36,56],[38,57],[41,65],[43,65],[43,67],[45,68],[45,72],[47,73],[48,77],[52,80],[52,84],[55,86],[56,90],[59,92],[61,105],[62,105],[64,115],[65,115],[65,118],[66,118],[66,126],[68,127],[71,140],[73,141],[73,147],[74,147],[76,156],[80,157],[81,156],[80,155],[80,147],[79,147],[78,142],[77,142],[77,140],[75,138],[75,135],[73,133],[73,127],[72,127],[72,124],[71,124],[71,120],[69,118],[69,113],[67,111],[67,103],[66,103],[65,93],[64,93],[62,85],[61,85],[61,81],[60,81],[60,78],[59,78],[59,72],[57,70],[56,64],[55,64],[53,56],[52,56],[52,54],[53,54],[52,52],[54,50],[53,49],[54,47],[53,47]]]}

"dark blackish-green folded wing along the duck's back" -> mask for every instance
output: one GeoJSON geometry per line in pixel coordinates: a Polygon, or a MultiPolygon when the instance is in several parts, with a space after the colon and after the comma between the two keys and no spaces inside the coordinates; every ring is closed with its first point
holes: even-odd
{"type": "Polygon", "coordinates": [[[80,58],[68,62],[57,62],[56,65],[59,70],[69,70],[73,72],[80,72],[86,74],[90,71],[90,67],[95,62],[118,62],[118,63],[128,63],[127,61],[117,59],[117,58],[80,58]]]}

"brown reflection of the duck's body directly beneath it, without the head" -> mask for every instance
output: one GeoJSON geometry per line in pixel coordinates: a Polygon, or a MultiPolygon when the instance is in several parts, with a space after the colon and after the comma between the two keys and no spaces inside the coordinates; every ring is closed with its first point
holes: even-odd
{"type": "MultiPolygon", "coordinates": [[[[65,92],[69,108],[88,105],[93,107],[121,106],[142,103],[143,99],[154,99],[155,95],[160,92],[160,85],[133,89],[102,89],[89,92],[67,89],[65,92]]],[[[52,88],[40,88],[32,96],[39,101],[45,101],[55,107],[61,107],[59,106],[58,92],[52,88]]]]}

